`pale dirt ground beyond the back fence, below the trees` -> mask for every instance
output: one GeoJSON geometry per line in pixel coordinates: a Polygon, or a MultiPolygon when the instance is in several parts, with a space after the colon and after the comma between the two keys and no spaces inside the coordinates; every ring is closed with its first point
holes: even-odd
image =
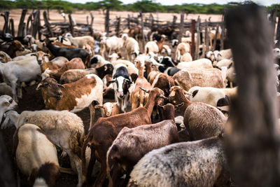
{"type": "MultiPolygon", "coordinates": [[[[0,12],[3,13],[4,11],[0,12]]],[[[21,9],[14,9],[10,10],[10,18],[13,18],[14,24],[15,24],[15,33],[18,33],[18,25],[20,22],[20,15],[22,13],[21,9]]],[[[27,18],[29,17],[31,13],[31,10],[27,12],[27,15],[25,16],[25,22],[27,22],[27,18]]],[[[90,13],[93,13],[94,15],[94,22],[93,22],[93,28],[97,29],[99,31],[104,31],[104,18],[105,15],[103,14],[102,10],[99,11],[76,11],[75,13],[72,13],[72,18],[76,20],[78,23],[87,23],[87,16],[89,18],[90,22],[90,13]]],[[[121,17],[121,18],[127,18],[127,15],[131,15],[134,17],[137,17],[139,13],[137,12],[128,12],[128,11],[110,11],[110,18],[114,19],[116,16],[121,17]]],[[[149,16],[150,13],[144,13],[144,16],[149,16]]],[[[173,16],[177,16],[177,22],[180,22],[180,14],[179,13],[153,13],[153,18],[161,21],[172,21],[173,16]]],[[[187,16],[185,15],[185,21],[190,22],[190,20],[195,19],[197,20],[198,16],[202,20],[208,20],[211,17],[212,22],[218,22],[222,20],[222,15],[204,15],[204,14],[188,14],[187,16]]],[[[50,22],[63,22],[63,17],[61,13],[55,10],[50,11],[50,22]]],[[[66,21],[68,21],[68,15],[66,15],[66,21]]],[[[3,17],[0,18],[0,29],[3,28],[3,17]]],[[[41,10],[41,25],[44,25],[43,22],[43,10],[41,10]]]]}

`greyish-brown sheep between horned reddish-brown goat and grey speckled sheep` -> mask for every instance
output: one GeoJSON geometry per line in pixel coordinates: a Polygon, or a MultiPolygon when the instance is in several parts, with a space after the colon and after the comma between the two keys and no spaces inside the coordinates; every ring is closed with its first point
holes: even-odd
{"type": "Polygon", "coordinates": [[[119,186],[118,165],[126,172],[126,186],[134,165],[149,151],[179,142],[179,134],[174,123],[174,105],[167,104],[164,111],[166,120],[160,123],[140,125],[134,128],[123,127],[107,152],[107,175],[109,186],[119,186]]]}

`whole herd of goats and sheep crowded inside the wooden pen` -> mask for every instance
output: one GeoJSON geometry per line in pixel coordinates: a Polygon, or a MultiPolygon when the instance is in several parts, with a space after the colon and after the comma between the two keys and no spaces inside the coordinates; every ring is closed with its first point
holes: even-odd
{"type": "MultiPolygon", "coordinates": [[[[209,30],[201,48],[212,45],[215,32],[209,30]]],[[[155,29],[144,51],[140,27],[121,37],[94,32],[44,41],[31,35],[1,39],[1,128],[15,125],[13,157],[33,186],[56,185],[57,148],[69,156],[77,186],[90,185],[92,179],[94,186],[232,182],[223,145],[230,100],[237,96],[232,52],[210,50],[193,60],[190,32],[181,43],[168,34],[168,28],[155,29]],[[18,113],[22,87],[35,84],[46,109],[18,113]],[[114,102],[104,103],[110,93],[114,102]],[[87,107],[85,134],[76,112],[87,107]],[[102,118],[94,123],[95,109],[102,118]],[[188,141],[182,141],[182,132],[188,141]]],[[[279,60],[279,48],[274,54],[279,60]]],[[[275,68],[278,87],[276,63],[275,68]]]]}

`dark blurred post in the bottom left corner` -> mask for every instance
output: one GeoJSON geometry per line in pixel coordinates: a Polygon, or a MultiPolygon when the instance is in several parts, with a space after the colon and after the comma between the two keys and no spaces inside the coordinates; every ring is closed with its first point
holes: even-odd
{"type": "Polygon", "coordinates": [[[0,176],[1,185],[3,185],[3,187],[17,186],[12,170],[12,164],[10,162],[10,156],[8,155],[8,151],[3,141],[2,132],[0,132],[0,168],[5,171],[2,172],[0,176]]]}

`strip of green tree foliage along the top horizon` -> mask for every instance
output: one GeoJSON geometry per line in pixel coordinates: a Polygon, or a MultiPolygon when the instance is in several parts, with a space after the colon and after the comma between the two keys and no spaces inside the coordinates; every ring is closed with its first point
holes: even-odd
{"type": "MultiPolygon", "coordinates": [[[[222,14],[225,8],[230,6],[238,6],[243,3],[230,2],[226,5],[220,4],[182,4],[173,6],[163,6],[154,0],[138,0],[134,4],[123,4],[119,0],[101,0],[98,2],[88,2],[86,4],[72,4],[62,0],[0,0],[0,9],[9,10],[13,8],[29,8],[29,9],[57,9],[65,13],[72,13],[76,10],[97,10],[110,8],[113,11],[134,11],[134,12],[165,12],[165,13],[180,13],[185,9],[186,13],[206,13],[206,14],[222,14]]],[[[280,4],[273,4],[265,7],[267,12],[272,11],[276,7],[280,12],[280,4]]]]}

